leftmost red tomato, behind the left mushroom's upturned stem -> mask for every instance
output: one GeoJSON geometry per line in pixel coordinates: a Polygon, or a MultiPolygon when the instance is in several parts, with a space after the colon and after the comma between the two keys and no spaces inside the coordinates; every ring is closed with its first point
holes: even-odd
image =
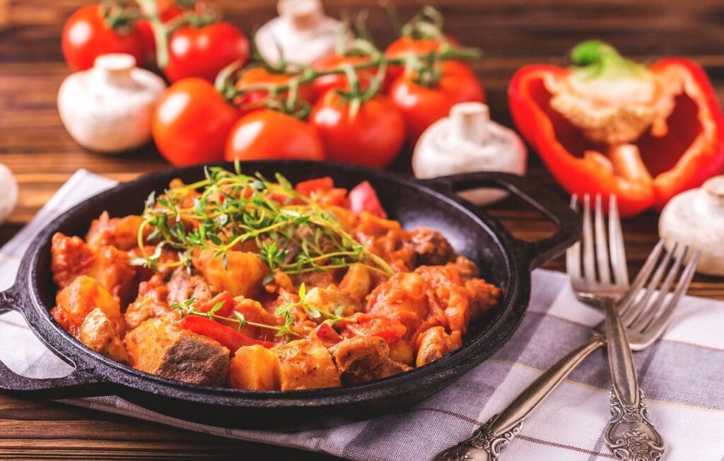
{"type": "Polygon", "coordinates": [[[128,30],[114,30],[103,17],[101,7],[89,5],[78,9],[65,23],[62,35],[65,61],[74,70],[93,67],[96,56],[126,53],[138,64],[146,62],[143,37],[133,25],[128,30]]]}

